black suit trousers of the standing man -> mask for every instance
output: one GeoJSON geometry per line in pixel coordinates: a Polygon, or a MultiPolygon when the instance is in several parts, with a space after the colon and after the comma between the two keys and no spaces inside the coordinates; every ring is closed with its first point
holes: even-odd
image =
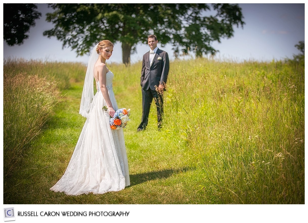
{"type": "Polygon", "coordinates": [[[156,104],[157,110],[157,125],[158,128],[161,127],[162,119],[163,119],[163,95],[157,93],[157,91],[153,91],[151,89],[142,91],[142,119],[138,128],[145,129],[148,125],[148,117],[150,113],[150,107],[154,98],[154,102],[156,104]]]}

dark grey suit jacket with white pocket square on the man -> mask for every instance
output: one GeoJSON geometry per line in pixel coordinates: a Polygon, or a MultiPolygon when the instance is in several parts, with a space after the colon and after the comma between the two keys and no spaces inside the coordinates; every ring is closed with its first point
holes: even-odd
{"type": "Polygon", "coordinates": [[[157,49],[151,66],[149,55],[150,51],[143,55],[140,84],[145,91],[149,88],[155,91],[155,86],[167,83],[169,57],[167,52],[157,49]]]}

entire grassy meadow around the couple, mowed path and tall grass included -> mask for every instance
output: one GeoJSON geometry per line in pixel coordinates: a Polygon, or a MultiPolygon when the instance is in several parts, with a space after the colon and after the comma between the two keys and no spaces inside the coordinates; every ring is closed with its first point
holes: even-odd
{"type": "Polygon", "coordinates": [[[124,129],[131,185],[102,195],[49,190],[63,175],[85,118],[80,63],[4,62],[4,204],[304,204],[305,70],[292,61],[175,60],[163,128],[146,131],[141,62],[107,64],[124,129]]]}

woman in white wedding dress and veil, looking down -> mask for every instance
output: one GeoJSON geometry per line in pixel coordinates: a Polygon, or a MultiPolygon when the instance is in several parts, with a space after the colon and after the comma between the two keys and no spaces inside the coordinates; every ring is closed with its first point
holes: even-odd
{"type": "Polygon", "coordinates": [[[106,66],[112,51],[113,44],[103,40],[90,54],[79,110],[87,120],[64,175],[51,188],[55,192],[102,194],[130,185],[123,129],[113,130],[109,124],[109,116],[118,109],[112,90],[113,73],[106,66]]]}

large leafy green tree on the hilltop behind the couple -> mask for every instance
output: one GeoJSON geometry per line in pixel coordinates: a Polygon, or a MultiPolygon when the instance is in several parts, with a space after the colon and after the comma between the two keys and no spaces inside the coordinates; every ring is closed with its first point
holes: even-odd
{"type": "Polygon", "coordinates": [[[130,63],[138,43],[155,34],[175,56],[194,52],[214,54],[213,41],[233,36],[233,26],[245,24],[238,4],[50,4],[47,22],[55,27],[44,35],[55,36],[77,55],[88,53],[102,39],[122,43],[123,63],[130,63]]]}

